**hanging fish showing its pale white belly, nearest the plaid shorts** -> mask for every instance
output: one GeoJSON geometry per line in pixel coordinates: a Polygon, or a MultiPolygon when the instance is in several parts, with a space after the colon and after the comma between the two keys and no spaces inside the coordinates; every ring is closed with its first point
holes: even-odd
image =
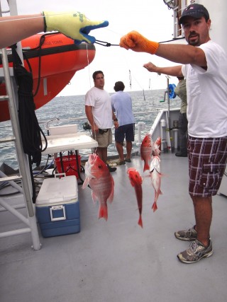
{"type": "Polygon", "coordinates": [[[160,190],[161,176],[162,174],[160,170],[160,158],[159,156],[153,156],[153,159],[150,163],[150,178],[153,188],[155,189],[155,201],[151,208],[153,209],[153,211],[157,210],[157,198],[160,194],[162,194],[162,191],[160,190]]]}

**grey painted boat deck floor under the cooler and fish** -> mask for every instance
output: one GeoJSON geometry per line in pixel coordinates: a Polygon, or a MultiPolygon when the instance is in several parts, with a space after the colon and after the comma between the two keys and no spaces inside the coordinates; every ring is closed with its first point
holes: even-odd
{"type": "MultiPolygon", "coordinates": [[[[187,158],[162,154],[163,194],[155,213],[150,178],[143,180],[143,228],[128,167],[142,173],[143,162],[135,156],[112,173],[115,194],[108,221],[97,218],[89,187],[79,186],[80,233],[41,238],[38,251],[30,248],[30,234],[1,238],[1,302],[226,301],[227,198],[214,197],[214,255],[185,265],[177,253],[188,243],[174,233],[194,225],[187,158]]],[[[21,225],[11,214],[0,215],[1,231],[21,225]]]]}

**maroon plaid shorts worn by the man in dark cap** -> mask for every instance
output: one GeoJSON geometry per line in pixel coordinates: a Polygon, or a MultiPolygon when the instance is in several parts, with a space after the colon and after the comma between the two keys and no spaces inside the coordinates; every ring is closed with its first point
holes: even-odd
{"type": "Polygon", "coordinates": [[[216,195],[227,161],[227,137],[199,139],[188,137],[189,194],[216,195]]]}

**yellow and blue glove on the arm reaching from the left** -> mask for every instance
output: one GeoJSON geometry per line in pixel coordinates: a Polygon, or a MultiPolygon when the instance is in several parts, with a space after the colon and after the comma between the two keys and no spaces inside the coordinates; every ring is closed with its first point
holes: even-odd
{"type": "Polygon", "coordinates": [[[90,31],[109,25],[108,21],[89,21],[79,11],[63,13],[43,11],[43,16],[45,18],[45,32],[52,30],[59,31],[67,37],[71,37],[77,45],[83,41],[89,44],[94,43],[95,37],[89,35],[90,31]]]}

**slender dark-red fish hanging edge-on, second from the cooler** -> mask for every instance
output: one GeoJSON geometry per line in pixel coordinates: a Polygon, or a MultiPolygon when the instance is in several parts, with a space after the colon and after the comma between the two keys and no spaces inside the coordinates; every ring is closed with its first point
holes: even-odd
{"type": "Polygon", "coordinates": [[[142,191],[142,178],[140,176],[140,173],[138,173],[138,170],[135,168],[128,168],[127,170],[128,173],[128,178],[131,182],[131,185],[135,189],[135,195],[137,199],[137,204],[138,204],[138,210],[139,210],[139,220],[138,220],[138,225],[143,228],[143,221],[142,221],[142,207],[143,207],[143,191],[142,191]]]}

